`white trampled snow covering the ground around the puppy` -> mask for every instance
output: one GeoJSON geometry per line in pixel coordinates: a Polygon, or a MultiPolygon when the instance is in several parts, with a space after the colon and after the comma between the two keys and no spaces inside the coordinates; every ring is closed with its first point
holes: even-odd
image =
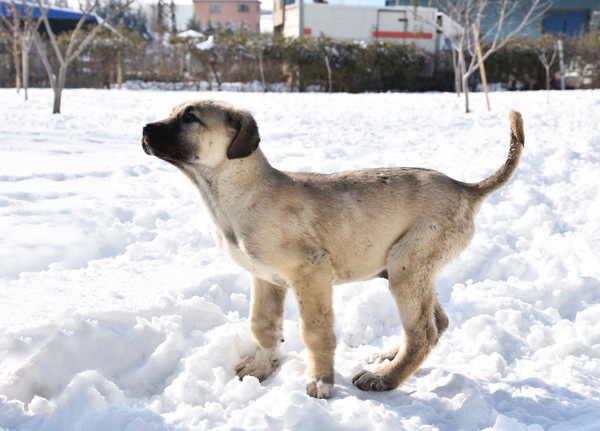
{"type": "Polygon", "coordinates": [[[600,429],[600,92],[259,94],[0,90],[0,429],[600,429]],[[439,278],[450,328],[399,389],[351,384],[402,342],[383,280],[335,290],[336,385],[305,394],[293,296],[280,368],[255,349],[249,277],[214,245],[191,184],[141,149],[189,98],[249,108],[284,170],[421,166],[478,181],[526,146],[439,278]]]}

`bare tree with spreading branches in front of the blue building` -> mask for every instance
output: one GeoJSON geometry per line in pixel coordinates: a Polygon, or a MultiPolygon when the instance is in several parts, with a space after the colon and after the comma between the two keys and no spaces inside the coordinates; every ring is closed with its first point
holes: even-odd
{"type": "Polygon", "coordinates": [[[480,63],[504,47],[530,23],[537,21],[550,7],[548,0],[429,0],[429,6],[448,15],[461,28],[434,23],[450,41],[453,50],[457,93],[465,95],[465,112],[469,112],[469,77],[480,63]],[[475,25],[475,26],[473,26],[475,25]],[[476,35],[479,29],[481,56],[476,55],[476,35]]]}

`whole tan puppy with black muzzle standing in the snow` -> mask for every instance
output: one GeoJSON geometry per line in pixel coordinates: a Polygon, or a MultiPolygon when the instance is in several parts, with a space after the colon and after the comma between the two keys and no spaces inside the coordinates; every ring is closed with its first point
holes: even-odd
{"type": "Polygon", "coordinates": [[[280,172],[258,148],[252,116],[222,102],[187,102],[146,125],[144,150],[190,178],[219,245],[254,277],[250,325],[258,351],[238,365],[238,376],[262,380],[277,367],[291,289],[309,351],[307,392],[328,398],[334,383],[332,286],[377,276],[389,280],[405,343],[372,358],[389,362],[359,373],[353,383],[384,391],[414,373],[448,327],[436,274],[467,247],[480,203],[508,182],[519,162],[523,123],[514,111],[510,121],[506,163],[474,184],[415,168],[280,172]]]}

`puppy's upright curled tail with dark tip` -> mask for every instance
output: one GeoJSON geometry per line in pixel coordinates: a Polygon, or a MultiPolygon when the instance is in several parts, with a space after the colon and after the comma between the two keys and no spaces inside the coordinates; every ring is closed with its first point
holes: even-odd
{"type": "Polygon", "coordinates": [[[523,117],[517,111],[510,111],[510,149],[504,165],[494,175],[485,180],[472,184],[472,191],[481,199],[491,195],[503,187],[512,177],[525,146],[525,134],[523,133],[523,117]]]}

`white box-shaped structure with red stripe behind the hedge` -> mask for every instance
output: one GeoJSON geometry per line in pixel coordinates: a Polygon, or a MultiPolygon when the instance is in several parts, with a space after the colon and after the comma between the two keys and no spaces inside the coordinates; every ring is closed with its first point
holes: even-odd
{"type": "Polygon", "coordinates": [[[273,26],[287,37],[327,36],[356,41],[414,44],[430,52],[448,47],[443,33],[461,27],[447,15],[429,7],[345,6],[275,0],[273,26]],[[436,29],[436,24],[444,32],[436,29]]]}

